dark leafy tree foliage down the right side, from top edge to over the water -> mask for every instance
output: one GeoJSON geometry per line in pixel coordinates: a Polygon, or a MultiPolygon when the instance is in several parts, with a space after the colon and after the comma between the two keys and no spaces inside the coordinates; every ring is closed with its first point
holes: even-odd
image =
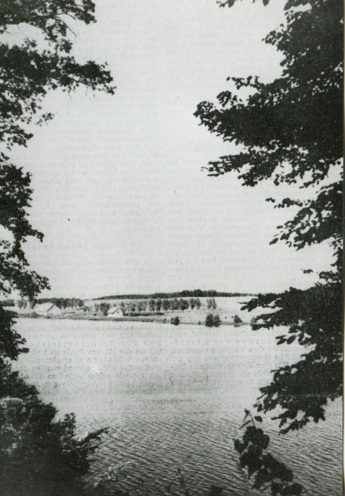
{"type": "MultiPolygon", "coordinates": [[[[234,1],[218,3],[231,7],[234,1]]],[[[289,0],[285,9],[285,23],[265,38],[284,56],[281,77],[269,84],[257,76],[228,77],[238,94],[226,90],[217,96],[218,105],[202,102],[195,113],[210,132],[239,145],[237,154],[208,163],[209,176],[235,171],[245,186],[263,180],[313,192],[319,186],[310,200],[284,198],[276,205],[300,209],[277,227],[271,244],[281,240],[301,249],[328,242],[333,269],[320,272],[320,282],[306,291],[259,295],[243,307],[272,309],[256,318],[253,329],[287,326],[277,344],[297,339],[309,347],[298,363],[274,371],[256,403],[264,412],[282,407],[276,416],[281,433],[324,419],[328,399],[343,390],[343,175],[333,184],[321,183],[343,157],[343,4],[289,0]],[[247,95],[250,90],[246,99],[243,90],[247,95]]]]}

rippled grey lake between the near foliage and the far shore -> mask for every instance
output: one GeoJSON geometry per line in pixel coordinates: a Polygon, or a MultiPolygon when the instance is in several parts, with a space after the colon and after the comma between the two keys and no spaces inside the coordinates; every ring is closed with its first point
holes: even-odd
{"type": "MultiPolygon", "coordinates": [[[[206,496],[211,485],[223,495],[262,494],[241,474],[233,438],[270,371],[304,348],[277,347],[276,331],[247,325],[18,318],[16,329],[30,353],[14,368],[42,399],[61,416],[74,412],[80,434],[109,427],[92,481],[122,463],[116,487],[131,496],[178,494],[179,469],[193,496],[206,496]]],[[[263,422],[268,451],[293,470],[302,494],[341,495],[341,401],[327,407],[326,422],[285,436],[276,435],[271,416],[263,422]]]]}

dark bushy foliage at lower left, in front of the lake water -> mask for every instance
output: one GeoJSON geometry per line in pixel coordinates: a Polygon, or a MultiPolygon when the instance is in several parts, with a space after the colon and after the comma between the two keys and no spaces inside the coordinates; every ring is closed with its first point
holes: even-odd
{"type": "Polygon", "coordinates": [[[20,347],[25,339],[13,329],[14,313],[0,312],[0,493],[74,495],[106,429],[79,439],[73,414],[54,420],[56,408],[5,361],[28,349],[20,347]]]}

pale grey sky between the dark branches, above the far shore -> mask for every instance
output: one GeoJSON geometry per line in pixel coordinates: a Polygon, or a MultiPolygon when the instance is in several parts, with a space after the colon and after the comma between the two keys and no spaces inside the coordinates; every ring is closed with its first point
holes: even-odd
{"type": "Polygon", "coordinates": [[[94,1],[97,23],[69,23],[72,55],[107,61],[115,95],[50,92],[43,111],[54,120],[11,151],[32,174],[30,221],[45,234],[25,246],[31,268],[50,280],[42,296],[265,293],[316,282],[331,250],[270,246],[296,211],[265,201],[315,191],[207,177],[202,167],[236,147],[193,116],[230,89],[228,76],[281,74],[282,55],[262,39],[284,22],[284,1],[94,1]]]}

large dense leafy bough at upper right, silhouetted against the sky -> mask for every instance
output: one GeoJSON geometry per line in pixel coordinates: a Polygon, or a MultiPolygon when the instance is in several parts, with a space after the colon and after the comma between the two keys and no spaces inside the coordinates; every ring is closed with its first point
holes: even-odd
{"type": "MultiPolygon", "coordinates": [[[[305,3],[289,1],[285,8],[305,3]]],[[[245,147],[210,162],[212,175],[249,165],[239,176],[247,186],[267,178],[277,185],[295,183],[310,172],[309,185],[324,179],[343,156],[343,5],[309,4],[307,11],[288,11],[286,26],[265,39],[284,54],[282,77],[266,85],[257,77],[233,77],[237,90],[253,89],[246,103],[224,91],[217,97],[221,109],[207,102],[198,106],[195,115],[211,132],[245,147]],[[284,162],[290,168],[280,168],[284,162]]]]}

